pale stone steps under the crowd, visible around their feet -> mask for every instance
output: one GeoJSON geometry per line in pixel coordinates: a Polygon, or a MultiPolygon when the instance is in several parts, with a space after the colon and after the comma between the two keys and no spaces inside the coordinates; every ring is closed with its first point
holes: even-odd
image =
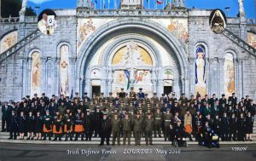
{"type": "MultiPolygon", "coordinates": [[[[1,123],[1,122],[0,122],[1,123]]],[[[100,138],[92,138],[91,141],[64,141],[64,137],[62,137],[62,141],[26,141],[25,140],[19,140],[19,137],[17,137],[17,140],[8,140],[9,138],[9,133],[8,132],[1,132],[0,133],[0,143],[21,143],[21,144],[85,144],[85,145],[98,145],[100,144],[100,138]]],[[[74,139],[74,138],[73,138],[74,139]]],[[[52,137],[53,140],[53,137],[52,137]]],[[[195,141],[195,138],[193,138],[194,141],[188,141],[189,145],[196,145],[198,142],[195,141]]],[[[110,143],[112,143],[112,138],[110,138],[110,143]]],[[[122,145],[123,139],[120,138],[120,143],[122,145]]],[[[127,144],[127,141],[126,141],[127,144]]],[[[131,145],[134,145],[135,141],[134,138],[131,138],[131,145]]],[[[145,138],[142,138],[142,145],[145,145],[145,138]]],[[[153,138],[153,144],[154,145],[170,145],[170,141],[164,141],[164,138],[157,137],[153,138]]],[[[253,123],[253,141],[219,141],[220,145],[232,145],[232,144],[256,144],[256,120],[253,123]]]]}

